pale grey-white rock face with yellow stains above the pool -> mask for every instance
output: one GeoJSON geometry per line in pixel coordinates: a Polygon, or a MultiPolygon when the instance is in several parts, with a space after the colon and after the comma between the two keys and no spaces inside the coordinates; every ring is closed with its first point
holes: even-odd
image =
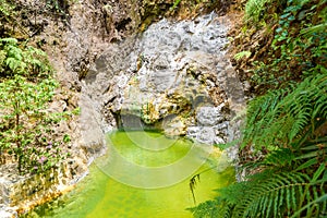
{"type": "Polygon", "coordinates": [[[244,104],[242,84],[225,57],[227,31],[211,13],[193,21],[161,20],[110,45],[82,81],[82,101],[99,114],[94,122],[105,132],[157,129],[226,143],[235,107],[244,104]]]}

